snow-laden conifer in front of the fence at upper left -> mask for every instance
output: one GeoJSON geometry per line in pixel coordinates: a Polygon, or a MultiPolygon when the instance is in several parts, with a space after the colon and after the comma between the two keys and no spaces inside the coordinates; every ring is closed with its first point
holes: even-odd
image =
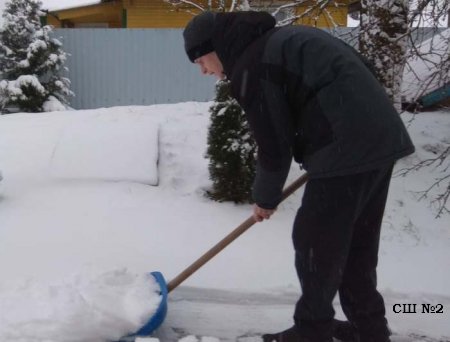
{"type": "Polygon", "coordinates": [[[41,2],[9,0],[0,29],[0,109],[18,107],[40,112],[46,102],[58,101],[63,107],[72,96],[70,81],[61,76],[66,53],[61,42],[51,38],[51,26],[40,22],[41,2]]]}

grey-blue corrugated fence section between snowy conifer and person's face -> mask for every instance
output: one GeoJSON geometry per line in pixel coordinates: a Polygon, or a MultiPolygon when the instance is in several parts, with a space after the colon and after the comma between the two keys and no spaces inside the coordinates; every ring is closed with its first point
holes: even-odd
{"type": "Polygon", "coordinates": [[[212,77],[187,59],[178,29],[55,29],[76,109],[210,101],[212,77]]]}

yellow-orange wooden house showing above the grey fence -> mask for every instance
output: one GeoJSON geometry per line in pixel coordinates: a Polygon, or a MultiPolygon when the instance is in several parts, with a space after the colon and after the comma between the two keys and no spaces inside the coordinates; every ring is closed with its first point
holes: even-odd
{"type": "MultiPolygon", "coordinates": [[[[206,8],[207,0],[203,7],[206,8]]],[[[228,0],[226,0],[228,1],[228,0]]],[[[275,10],[288,0],[270,1],[258,0],[258,3],[250,2],[252,8],[275,10]]],[[[297,24],[318,27],[335,27],[347,25],[349,5],[355,0],[331,1],[325,10],[314,8],[312,2],[305,2],[295,9],[296,14],[308,12],[297,20],[297,24]]],[[[229,7],[229,6],[228,6],[229,7]]],[[[228,8],[227,7],[227,8],[228,8]]],[[[164,0],[98,0],[91,1],[88,5],[74,5],[71,8],[53,10],[43,9],[46,16],[43,21],[54,27],[100,27],[100,28],[182,28],[199,10],[186,4],[173,4],[164,0]]],[[[220,10],[218,6],[212,10],[220,10]]],[[[283,12],[277,16],[283,19],[283,12]]]]}

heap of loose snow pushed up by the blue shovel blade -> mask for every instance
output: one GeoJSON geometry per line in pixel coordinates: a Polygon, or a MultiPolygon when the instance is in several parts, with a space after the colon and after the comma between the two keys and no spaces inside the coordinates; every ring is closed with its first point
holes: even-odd
{"type": "Polygon", "coordinates": [[[161,301],[151,275],[123,270],[33,280],[0,293],[0,340],[118,340],[141,328],[161,301]]]}

